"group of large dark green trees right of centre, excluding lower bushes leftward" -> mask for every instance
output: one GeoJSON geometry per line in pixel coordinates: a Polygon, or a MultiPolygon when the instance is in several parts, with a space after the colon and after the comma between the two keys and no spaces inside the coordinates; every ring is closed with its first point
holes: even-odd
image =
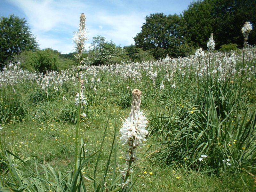
{"type": "MultiPolygon", "coordinates": [[[[216,49],[243,47],[241,28],[246,21],[256,24],[255,0],[200,0],[191,3],[182,14],[150,14],[134,37],[135,46],[150,51],[155,59],[184,57],[206,44],[211,33],[216,49]],[[228,45],[228,46],[227,46],[228,45]]],[[[256,43],[256,32],[249,44],[256,43]]]]}

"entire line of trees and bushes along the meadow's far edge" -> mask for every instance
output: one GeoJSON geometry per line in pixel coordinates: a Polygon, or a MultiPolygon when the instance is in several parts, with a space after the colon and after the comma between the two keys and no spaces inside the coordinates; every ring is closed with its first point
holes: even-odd
{"type": "MultiPolygon", "coordinates": [[[[211,33],[217,50],[243,47],[241,28],[246,21],[256,23],[255,0],[198,0],[180,15],[153,13],[145,17],[135,44],[116,46],[102,36],[93,37],[91,48],[84,52],[86,64],[106,65],[121,60],[159,60],[169,55],[185,57],[199,47],[207,49],[211,33]]],[[[255,45],[252,30],[248,43],[255,45]]],[[[23,67],[38,72],[61,70],[75,64],[73,53],[61,54],[52,49],[38,49],[28,23],[15,15],[0,19],[0,67],[10,60],[21,60],[23,67]]]]}

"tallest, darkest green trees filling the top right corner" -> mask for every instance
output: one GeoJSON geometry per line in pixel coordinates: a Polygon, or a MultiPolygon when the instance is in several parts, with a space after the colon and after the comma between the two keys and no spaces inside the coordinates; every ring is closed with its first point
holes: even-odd
{"type": "MultiPolygon", "coordinates": [[[[215,49],[223,44],[243,47],[241,28],[246,21],[256,24],[256,1],[252,0],[198,0],[183,11],[185,42],[195,48],[207,49],[211,33],[215,49]]],[[[256,43],[256,31],[249,35],[249,44],[256,43]]]]}

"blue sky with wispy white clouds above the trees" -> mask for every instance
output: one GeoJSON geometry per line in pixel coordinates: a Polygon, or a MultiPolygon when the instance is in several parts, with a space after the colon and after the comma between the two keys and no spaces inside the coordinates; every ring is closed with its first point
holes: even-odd
{"type": "Polygon", "coordinates": [[[72,37],[79,16],[86,16],[89,41],[100,35],[121,47],[134,44],[150,13],[180,14],[192,0],[0,0],[0,16],[25,18],[40,49],[74,51],[72,37]]]}

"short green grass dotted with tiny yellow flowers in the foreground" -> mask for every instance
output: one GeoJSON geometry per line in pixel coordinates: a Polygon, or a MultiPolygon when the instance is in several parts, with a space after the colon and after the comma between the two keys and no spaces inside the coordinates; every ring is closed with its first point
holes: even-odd
{"type": "MultiPolygon", "coordinates": [[[[114,126],[117,123],[121,127],[119,116],[127,116],[129,109],[120,107],[108,108],[107,113],[111,113],[108,123],[107,133],[105,136],[104,148],[100,155],[100,163],[97,169],[97,178],[101,178],[107,158],[109,156],[109,147],[113,139],[114,126]]],[[[106,125],[106,119],[95,119],[92,122],[83,122],[81,124],[81,137],[85,141],[86,155],[90,156],[100,148],[103,127],[106,125]]],[[[49,163],[55,171],[68,172],[74,168],[75,156],[75,125],[41,123],[40,121],[31,120],[26,123],[10,124],[4,127],[5,139],[7,145],[13,143],[16,154],[20,157],[35,156],[39,163],[44,161],[49,163]]],[[[4,133],[2,132],[1,138],[4,133]]],[[[117,172],[124,169],[125,146],[122,146],[117,134],[117,172]]],[[[157,138],[151,136],[147,143],[137,154],[139,157],[148,150],[148,147],[155,144],[157,138]]],[[[153,151],[156,147],[151,147],[153,151]]],[[[160,165],[155,159],[147,159],[134,168],[134,176],[138,176],[136,185],[140,191],[244,191],[243,182],[234,174],[228,175],[226,180],[219,174],[197,173],[186,167],[186,161],[176,163],[173,166],[160,165]]],[[[96,158],[92,158],[86,166],[86,173],[93,174],[96,158]]],[[[33,163],[31,162],[33,167],[33,163]]],[[[113,159],[110,166],[113,167],[113,159]]],[[[111,172],[111,168],[109,170],[111,172]]],[[[253,187],[253,178],[243,173],[247,185],[253,187]]],[[[110,179],[109,177],[108,179],[110,179]]],[[[109,182],[109,180],[107,180],[109,182]]],[[[93,182],[85,180],[85,186],[88,191],[93,191],[93,182]]]]}

